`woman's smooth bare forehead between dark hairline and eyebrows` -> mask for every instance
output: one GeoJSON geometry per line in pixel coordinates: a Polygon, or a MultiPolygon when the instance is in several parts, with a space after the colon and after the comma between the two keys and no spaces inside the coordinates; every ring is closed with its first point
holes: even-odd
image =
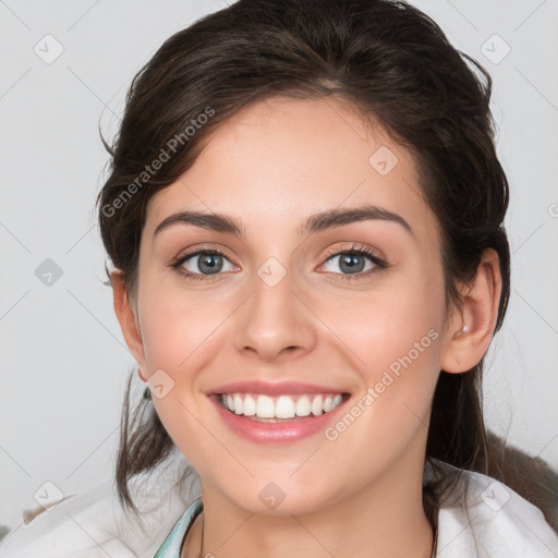
{"type": "Polygon", "coordinates": [[[274,97],[211,132],[195,163],[150,199],[146,230],[182,209],[300,230],[307,215],[362,204],[433,226],[411,154],[378,122],[339,99],[274,97]]]}

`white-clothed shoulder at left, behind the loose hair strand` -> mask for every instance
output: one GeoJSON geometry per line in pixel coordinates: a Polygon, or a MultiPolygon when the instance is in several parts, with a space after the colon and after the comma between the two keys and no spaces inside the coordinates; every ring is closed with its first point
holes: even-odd
{"type": "Polygon", "coordinates": [[[138,478],[132,492],[137,518],[124,512],[110,481],[82,490],[12,529],[0,558],[153,558],[184,511],[179,477],[172,468],[138,478]]]}

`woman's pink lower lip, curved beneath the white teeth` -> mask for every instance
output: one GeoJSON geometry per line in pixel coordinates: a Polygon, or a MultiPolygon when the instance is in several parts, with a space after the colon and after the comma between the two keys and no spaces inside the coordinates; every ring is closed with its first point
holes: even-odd
{"type": "Polygon", "coordinates": [[[279,423],[260,423],[253,421],[242,414],[231,413],[219,403],[220,396],[213,395],[209,399],[217,407],[225,423],[231,430],[243,438],[257,444],[283,444],[299,441],[318,432],[324,432],[339,414],[339,410],[344,408],[349,398],[344,399],[332,411],[318,415],[299,417],[292,421],[282,421],[279,423]]]}

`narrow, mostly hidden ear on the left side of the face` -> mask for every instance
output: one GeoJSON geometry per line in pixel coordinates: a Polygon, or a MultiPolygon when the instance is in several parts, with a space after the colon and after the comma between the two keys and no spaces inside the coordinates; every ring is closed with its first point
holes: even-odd
{"type": "Polygon", "coordinates": [[[130,349],[130,352],[134,355],[140,367],[140,377],[147,381],[145,371],[147,369],[145,362],[144,344],[138,326],[138,320],[135,316],[134,310],[130,305],[128,298],[124,274],[120,269],[114,269],[110,274],[110,282],[112,284],[112,296],[114,303],[114,312],[117,318],[120,322],[120,328],[124,336],[124,340],[130,349]]]}

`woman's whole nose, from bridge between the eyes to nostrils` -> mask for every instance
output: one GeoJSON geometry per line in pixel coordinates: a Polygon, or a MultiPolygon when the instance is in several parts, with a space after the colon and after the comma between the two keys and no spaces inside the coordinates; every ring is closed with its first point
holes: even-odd
{"type": "Polygon", "coordinates": [[[276,258],[268,258],[253,279],[235,331],[239,351],[252,349],[274,360],[283,349],[310,350],[314,342],[311,313],[295,295],[294,277],[276,258]]]}

